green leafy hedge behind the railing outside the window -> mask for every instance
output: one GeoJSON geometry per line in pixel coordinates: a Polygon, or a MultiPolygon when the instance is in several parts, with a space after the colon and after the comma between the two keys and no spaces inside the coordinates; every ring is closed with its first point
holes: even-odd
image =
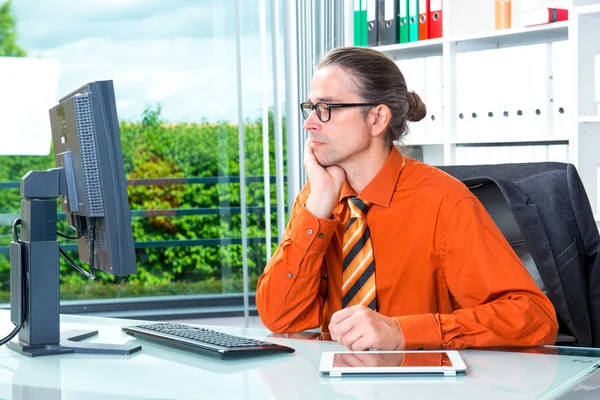
{"type": "MultiPolygon", "coordinates": [[[[275,175],[274,129],[269,115],[270,171],[275,175]]],[[[191,246],[187,240],[226,238],[242,235],[241,214],[230,207],[240,207],[239,183],[187,183],[202,177],[238,177],[238,128],[226,122],[167,124],[161,119],[160,106],[147,109],[140,123],[120,124],[123,162],[128,179],[138,184],[128,186],[131,210],[146,210],[152,216],[132,218],[136,242],[179,241],[176,246],[137,249],[138,273],[115,278],[99,273],[91,284],[61,259],[61,290],[73,298],[121,297],[128,295],[171,294],[171,291],[195,293],[241,290],[242,246],[223,244],[191,246]],[[176,178],[175,183],[146,184],[139,180],[176,178]],[[177,210],[219,209],[214,214],[175,215],[177,210]],[[151,211],[151,212],[149,212],[151,211]],[[210,282],[220,282],[212,284],[210,282]],[[100,286],[97,286],[100,285],[100,286]],[[104,286],[102,286],[104,285],[104,286]],[[79,292],[74,288],[81,287],[79,292]],[[125,289],[123,289],[126,288],[125,289]],[[70,288],[70,289],[69,289],[70,288]],[[100,289],[97,289],[100,288],[100,289]],[[191,288],[191,289],[190,289],[191,288]],[[105,292],[107,295],[102,296],[105,292]],[[80,296],[80,297],[78,297],[80,296]]],[[[245,170],[247,176],[263,176],[262,121],[248,122],[244,128],[245,170]]],[[[285,137],[285,135],[284,135],[285,137]]],[[[285,156],[285,152],[284,152],[285,156]]],[[[285,161],[284,161],[285,165],[285,161]]],[[[0,182],[17,181],[32,169],[54,167],[54,157],[0,157],[0,182]]],[[[270,184],[271,205],[276,204],[276,187],[270,184]]],[[[264,184],[246,185],[248,207],[264,209],[264,184]]],[[[10,226],[1,218],[18,214],[18,189],[0,189],[0,247],[10,241],[10,226]]],[[[6,218],[5,218],[6,219],[6,218]]],[[[59,229],[69,232],[65,221],[59,229]]],[[[276,215],[271,215],[272,236],[277,235],[276,215]]],[[[72,231],[71,231],[72,234],[72,231]]],[[[264,238],[264,211],[247,213],[247,236],[264,238]]],[[[272,244],[272,250],[276,244],[272,244]]],[[[249,273],[253,282],[266,264],[266,244],[248,245],[249,273]]],[[[70,254],[77,259],[77,254],[70,254]]],[[[0,254],[0,290],[7,288],[9,260],[0,254]]],[[[253,288],[253,286],[251,286],[253,288]]]]}

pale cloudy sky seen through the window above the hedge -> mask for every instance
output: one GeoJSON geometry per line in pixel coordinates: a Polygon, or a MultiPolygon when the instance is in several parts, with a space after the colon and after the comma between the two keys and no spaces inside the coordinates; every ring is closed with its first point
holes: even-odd
{"type": "MultiPolygon", "coordinates": [[[[240,4],[243,114],[256,119],[264,87],[259,0],[240,4]]],[[[160,104],[169,122],[237,122],[234,0],[13,0],[13,10],[28,56],[60,60],[57,100],[112,79],[122,121],[160,104]]],[[[266,21],[272,106],[270,13],[266,21]]]]}

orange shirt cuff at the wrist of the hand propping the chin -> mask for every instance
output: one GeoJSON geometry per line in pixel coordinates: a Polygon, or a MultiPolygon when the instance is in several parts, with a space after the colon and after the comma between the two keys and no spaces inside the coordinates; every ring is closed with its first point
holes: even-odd
{"type": "Polygon", "coordinates": [[[304,249],[325,251],[339,224],[339,219],[315,217],[303,206],[290,230],[290,239],[304,249]]]}

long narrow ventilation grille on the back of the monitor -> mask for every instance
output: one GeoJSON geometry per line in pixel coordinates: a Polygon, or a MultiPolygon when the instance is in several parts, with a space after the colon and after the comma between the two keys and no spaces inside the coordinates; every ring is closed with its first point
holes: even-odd
{"type": "Polygon", "coordinates": [[[92,120],[92,107],[89,95],[75,96],[73,104],[75,106],[77,132],[79,134],[79,149],[83,165],[88,216],[102,217],[104,216],[104,205],[102,204],[98,157],[96,155],[96,142],[94,140],[94,121],[92,120]]]}

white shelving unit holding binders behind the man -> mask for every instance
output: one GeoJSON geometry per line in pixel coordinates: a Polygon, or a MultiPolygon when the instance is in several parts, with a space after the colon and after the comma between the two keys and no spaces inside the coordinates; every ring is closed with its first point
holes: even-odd
{"type": "MultiPolygon", "coordinates": [[[[525,0],[513,0],[513,7],[518,7],[519,1],[525,0]]],[[[549,6],[560,6],[556,3],[557,1],[554,1],[549,6]]],[[[565,150],[563,160],[577,167],[596,220],[599,221],[600,198],[597,197],[600,197],[600,190],[597,186],[600,180],[597,171],[600,168],[600,115],[594,93],[594,56],[600,54],[600,0],[563,0],[562,3],[569,8],[569,21],[528,28],[494,30],[493,0],[443,0],[443,38],[380,46],[377,49],[397,61],[399,65],[419,58],[441,58],[441,135],[429,138],[415,134],[412,138],[409,134],[406,141],[408,145],[419,149],[418,154],[425,162],[437,165],[456,164],[457,149],[462,150],[469,146],[505,148],[514,145],[539,148],[544,145],[558,145],[561,151],[565,150]],[[553,71],[551,67],[552,49],[556,42],[564,42],[568,55],[568,61],[564,62],[565,67],[560,71],[553,71]],[[465,112],[462,108],[459,109],[462,105],[457,101],[457,93],[465,88],[461,86],[459,76],[459,69],[464,63],[460,64],[460,60],[457,62],[457,58],[464,58],[466,53],[491,53],[485,50],[494,49],[508,49],[506,51],[510,52],[518,51],[518,48],[525,49],[522,46],[544,44],[547,45],[547,65],[550,66],[544,70],[548,74],[547,87],[543,88],[547,96],[545,101],[542,101],[544,104],[540,110],[536,109],[535,113],[541,115],[540,118],[546,118],[546,124],[542,125],[546,133],[510,134],[510,130],[501,131],[494,128],[491,132],[476,132],[475,137],[463,135],[461,130],[465,127],[465,119],[470,121],[469,118],[479,118],[491,121],[486,119],[490,117],[494,118],[494,123],[498,125],[498,122],[506,121],[502,117],[506,117],[508,113],[502,113],[501,109],[496,110],[500,111],[499,113],[480,109],[479,114],[473,111],[473,115],[469,115],[471,110],[465,112]],[[570,89],[569,93],[563,94],[560,104],[554,101],[555,93],[552,89],[556,79],[562,79],[562,83],[570,89]],[[558,117],[557,112],[560,113],[558,117]],[[558,125],[554,125],[555,118],[562,118],[560,129],[556,128],[558,125]]],[[[513,21],[515,12],[518,13],[518,10],[513,9],[513,21]]],[[[352,26],[352,21],[347,22],[352,26]]],[[[403,69],[402,66],[400,68],[403,69]]],[[[506,71],[506,74],[510,73],[510,69],[506,71]]],[[[516,73],[514,70],[512,72],[516,73]]],[[[409,79],[407,84],[409,90],[415,90],[411,88],[409,79]]],[[[424,97],[423,93],[415,91],[424,97]]],[[[484,93],[474,95],[490,96],[495,93],[493,90],[482,91],[484,93]]],[[[515,93],[515,99],[520,95],[515,93]]],[[[427,104],[427,101],[425,103],[427,104]]],[[[513,121],[519,118],[515,115],[514,112],[510,114],[513,121]]],[[[514,159],[504,162],[514,162],[514,159]]]]}

